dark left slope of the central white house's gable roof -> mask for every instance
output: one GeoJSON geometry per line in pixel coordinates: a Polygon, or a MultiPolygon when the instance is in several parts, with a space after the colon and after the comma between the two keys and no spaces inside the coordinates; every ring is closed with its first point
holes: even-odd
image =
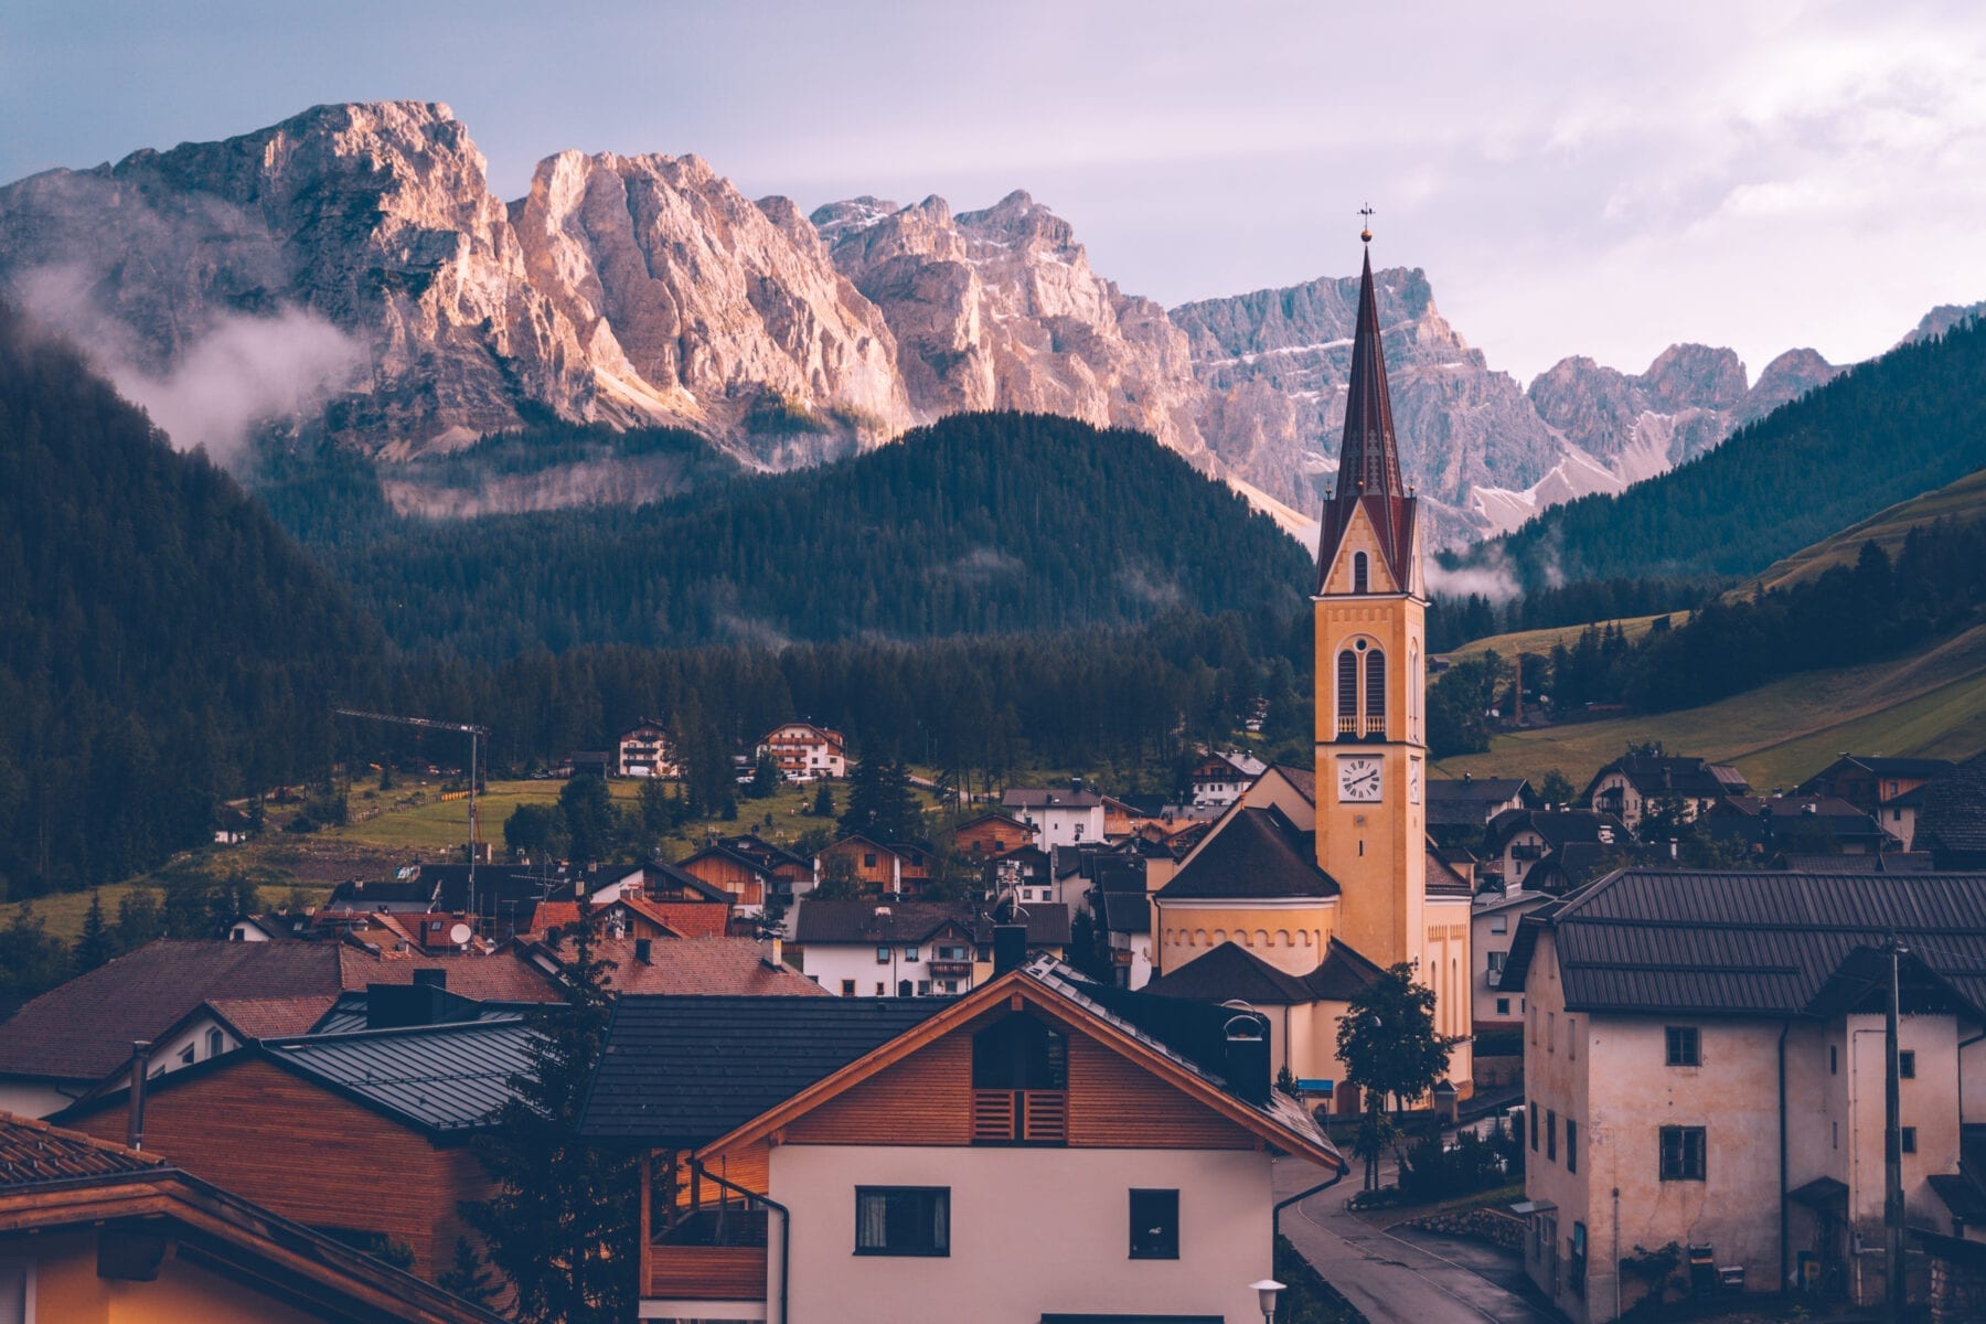
{"type": "Polygon", "coordinates": [[[949,1004],[624,996],[580,1129],[596,1139],[703,1145],[949,1004]]]}

